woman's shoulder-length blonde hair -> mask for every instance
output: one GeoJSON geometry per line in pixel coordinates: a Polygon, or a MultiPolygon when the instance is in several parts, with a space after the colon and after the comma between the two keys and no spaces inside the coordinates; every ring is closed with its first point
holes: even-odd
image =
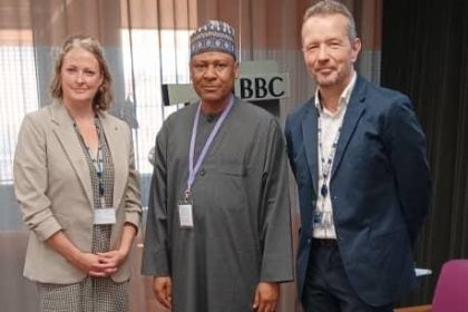
{"type": "Polygon", "coordinates": [[[92,109],[96,111],[98,110],[107,110],[110,107],[110,103],[113,100],[113,95],[110,90],[111,77],[109,67],[104,58],[103,48],[100,47],[99,42],[90,37],[85,35],[71,36],[69,37],[61,47],[60,53],[57,57],[55,69],[53,69],[53,79],[50,84],[50,92],[52,98],[62,99],[64,91],[61,89],[61,67],[64,65],[65,56],[72,49],[72,48],[82,48],[88,52],[92,53],[98,64],[99,70],[103,75],[103,84],[99,86],[98,91],[96,92],[95,97],[92,98],[92,109]]]}

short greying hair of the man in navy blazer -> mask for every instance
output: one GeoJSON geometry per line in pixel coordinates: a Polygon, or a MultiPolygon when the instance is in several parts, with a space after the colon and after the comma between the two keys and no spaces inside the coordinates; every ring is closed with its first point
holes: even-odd
{"type": "Polygon", "coordinates": [[[306,22],[308,19],[311,17],[331,14],[344,16],[348,19],[348,37],[351,41],[358,37],[355,31],[354,18],[351,14],[350,10],[348,10],[347,6],[344,6],[343,3],[334,0],[323,0],[310,7],[304,13],[303,23],[306,22]]]}

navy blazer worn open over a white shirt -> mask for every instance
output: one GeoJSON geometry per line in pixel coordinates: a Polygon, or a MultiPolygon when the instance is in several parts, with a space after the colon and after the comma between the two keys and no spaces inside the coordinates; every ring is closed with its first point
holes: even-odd
{"type": "MultiPolygon", "coordinates": [[[[312,98],[291,113],[285,126],[301,211],[300,299],[319,189],[318,116],[312,98]]],[[[412,245],[429,195],[426,138],[410,99],[358,76],[333,160],[330,196],[344,270],[368,304],[389,304],[415,285],[412,245]]]]}

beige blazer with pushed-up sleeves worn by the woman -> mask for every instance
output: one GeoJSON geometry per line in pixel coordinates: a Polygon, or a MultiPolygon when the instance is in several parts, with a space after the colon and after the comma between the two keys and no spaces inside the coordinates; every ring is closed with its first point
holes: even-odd
{"type": "MultiPolygon", "coordinates": [[[[99,114],[115,167],[110,247],[117,248],[124,223],[137,228],[142,217],[140,191],[135,170],[129,127],[99,114]]],[[[76,283],[86,276],[45,241],[58,231],[81,251],[90,252],[92,238],[92,186],[89,167],[74,121],[56,103],[28,114],[21,125],[13,162],[14,192],[22,217],[30,230],[25,276],[42,283],[76,283]]],[[[129,260],[111,279],[130,276],[129,260]]]]}

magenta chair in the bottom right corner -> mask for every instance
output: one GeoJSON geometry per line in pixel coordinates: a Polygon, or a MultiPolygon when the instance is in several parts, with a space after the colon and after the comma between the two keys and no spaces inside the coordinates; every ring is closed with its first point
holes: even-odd
{"type": "Polygon", "coordinates": [[[468,260],[450,260],[440,271],[431,305],[396,309],[396,312],[467,312],[468,260]]]}

